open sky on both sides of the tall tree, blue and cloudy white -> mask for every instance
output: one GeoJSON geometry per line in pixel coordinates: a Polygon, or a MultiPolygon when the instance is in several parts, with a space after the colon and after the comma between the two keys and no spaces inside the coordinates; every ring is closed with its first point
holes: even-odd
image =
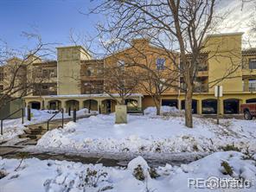
{"type": "MultiPolygon", "coordinates": [[[[220,32],[245,32],[244,39],[249,36],[256,44],[256,33],[247,25],[255,12],[255,4],[246,3],[241,10],[241,0],[221,2],[218,12],[231,12],[222,22],[220,32]]],[[[95,4],[91,0],[0,0],[0,39],[11,48],[21,48],[31,44],[22,37],[25,31],[40,34],[43,42],[70,45],[71,29],[81,36],[97,34],[95,24],[104,21],[103,17],[79,12],[88,12],[95,4]]]]}

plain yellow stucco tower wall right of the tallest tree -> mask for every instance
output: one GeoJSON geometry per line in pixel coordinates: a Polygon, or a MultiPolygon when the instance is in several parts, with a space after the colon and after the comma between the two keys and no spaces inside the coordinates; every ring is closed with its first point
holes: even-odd
{"type": "MultiPolygon", "coordinates": [[[[208,82],[210,86],[213,86],[221,78],[226,77],[226,80],[221,80],[216,84],[222,85],[223,92],[226,93],[243,90],[241,35],[242,33],[209,35],[205,41],[205,51],[209,51],[208,82]],[[230,75],[227,76],[227,74],[230,75]]],[[[214,86],[209,88],[209,92],[214,92],[214,86]]]]}

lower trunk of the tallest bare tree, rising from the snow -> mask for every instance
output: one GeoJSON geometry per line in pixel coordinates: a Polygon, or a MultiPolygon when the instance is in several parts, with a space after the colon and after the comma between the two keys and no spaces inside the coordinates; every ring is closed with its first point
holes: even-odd
{"type": "Polygon", "coordinates": [[[187,92],[185,95],[185,125],[189,128],[193,128],[193,118],[192,118],[192,96],[193,96],[193,86],[187,85],[187,92]]]}

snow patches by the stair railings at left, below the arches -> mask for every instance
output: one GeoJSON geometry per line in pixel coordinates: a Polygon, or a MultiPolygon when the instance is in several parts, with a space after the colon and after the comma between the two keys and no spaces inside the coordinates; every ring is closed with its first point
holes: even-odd
{"type": "MultiPolygon", "coordinates": [[[[3,136],[0,135],[0,141],[3,140],[9,140],[10,138],[15,138],[17,135],[20,135],[23,133],[23,129],[25,128],[24,125],[33,125],[33,124],[39,124],[42,122],[45,122],[48,120],[48,118],[51,118],[54,113],[54,111],[50,110],[35,110],[32,109],[32,117],[31,121],[28,121],[26,117],[24,117],[24,124],[22,125],[22,118],[16,118],[16,119],[6,119],[3,120],[3,136]]],[[[77,117],[83,116],[86,113],[88,113],[87,109],[82,109],[77,112],[77,117]]],[[[94,113],[94,112],[92,112],[94,113]]],[[[61,113],[58,113],[54,119],[61,118],[61,113]]],[[[64,118],[70,118],[67,113],[64,113],[64,118]]]]}

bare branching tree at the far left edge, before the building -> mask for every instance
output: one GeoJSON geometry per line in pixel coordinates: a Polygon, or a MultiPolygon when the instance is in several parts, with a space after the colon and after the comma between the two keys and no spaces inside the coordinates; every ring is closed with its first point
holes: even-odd
{"type": "Polygon", "coordinates": [[[43,43],[39,35],[23,35],[33,39],[34,48],[13,49],[3,41],[0,45],[0,108],[10,101],[38,91],[35,84],[40,83],[40,80],[34,78],[33,63],[40,62],[53,53],[52,44],[43,43]]]}

